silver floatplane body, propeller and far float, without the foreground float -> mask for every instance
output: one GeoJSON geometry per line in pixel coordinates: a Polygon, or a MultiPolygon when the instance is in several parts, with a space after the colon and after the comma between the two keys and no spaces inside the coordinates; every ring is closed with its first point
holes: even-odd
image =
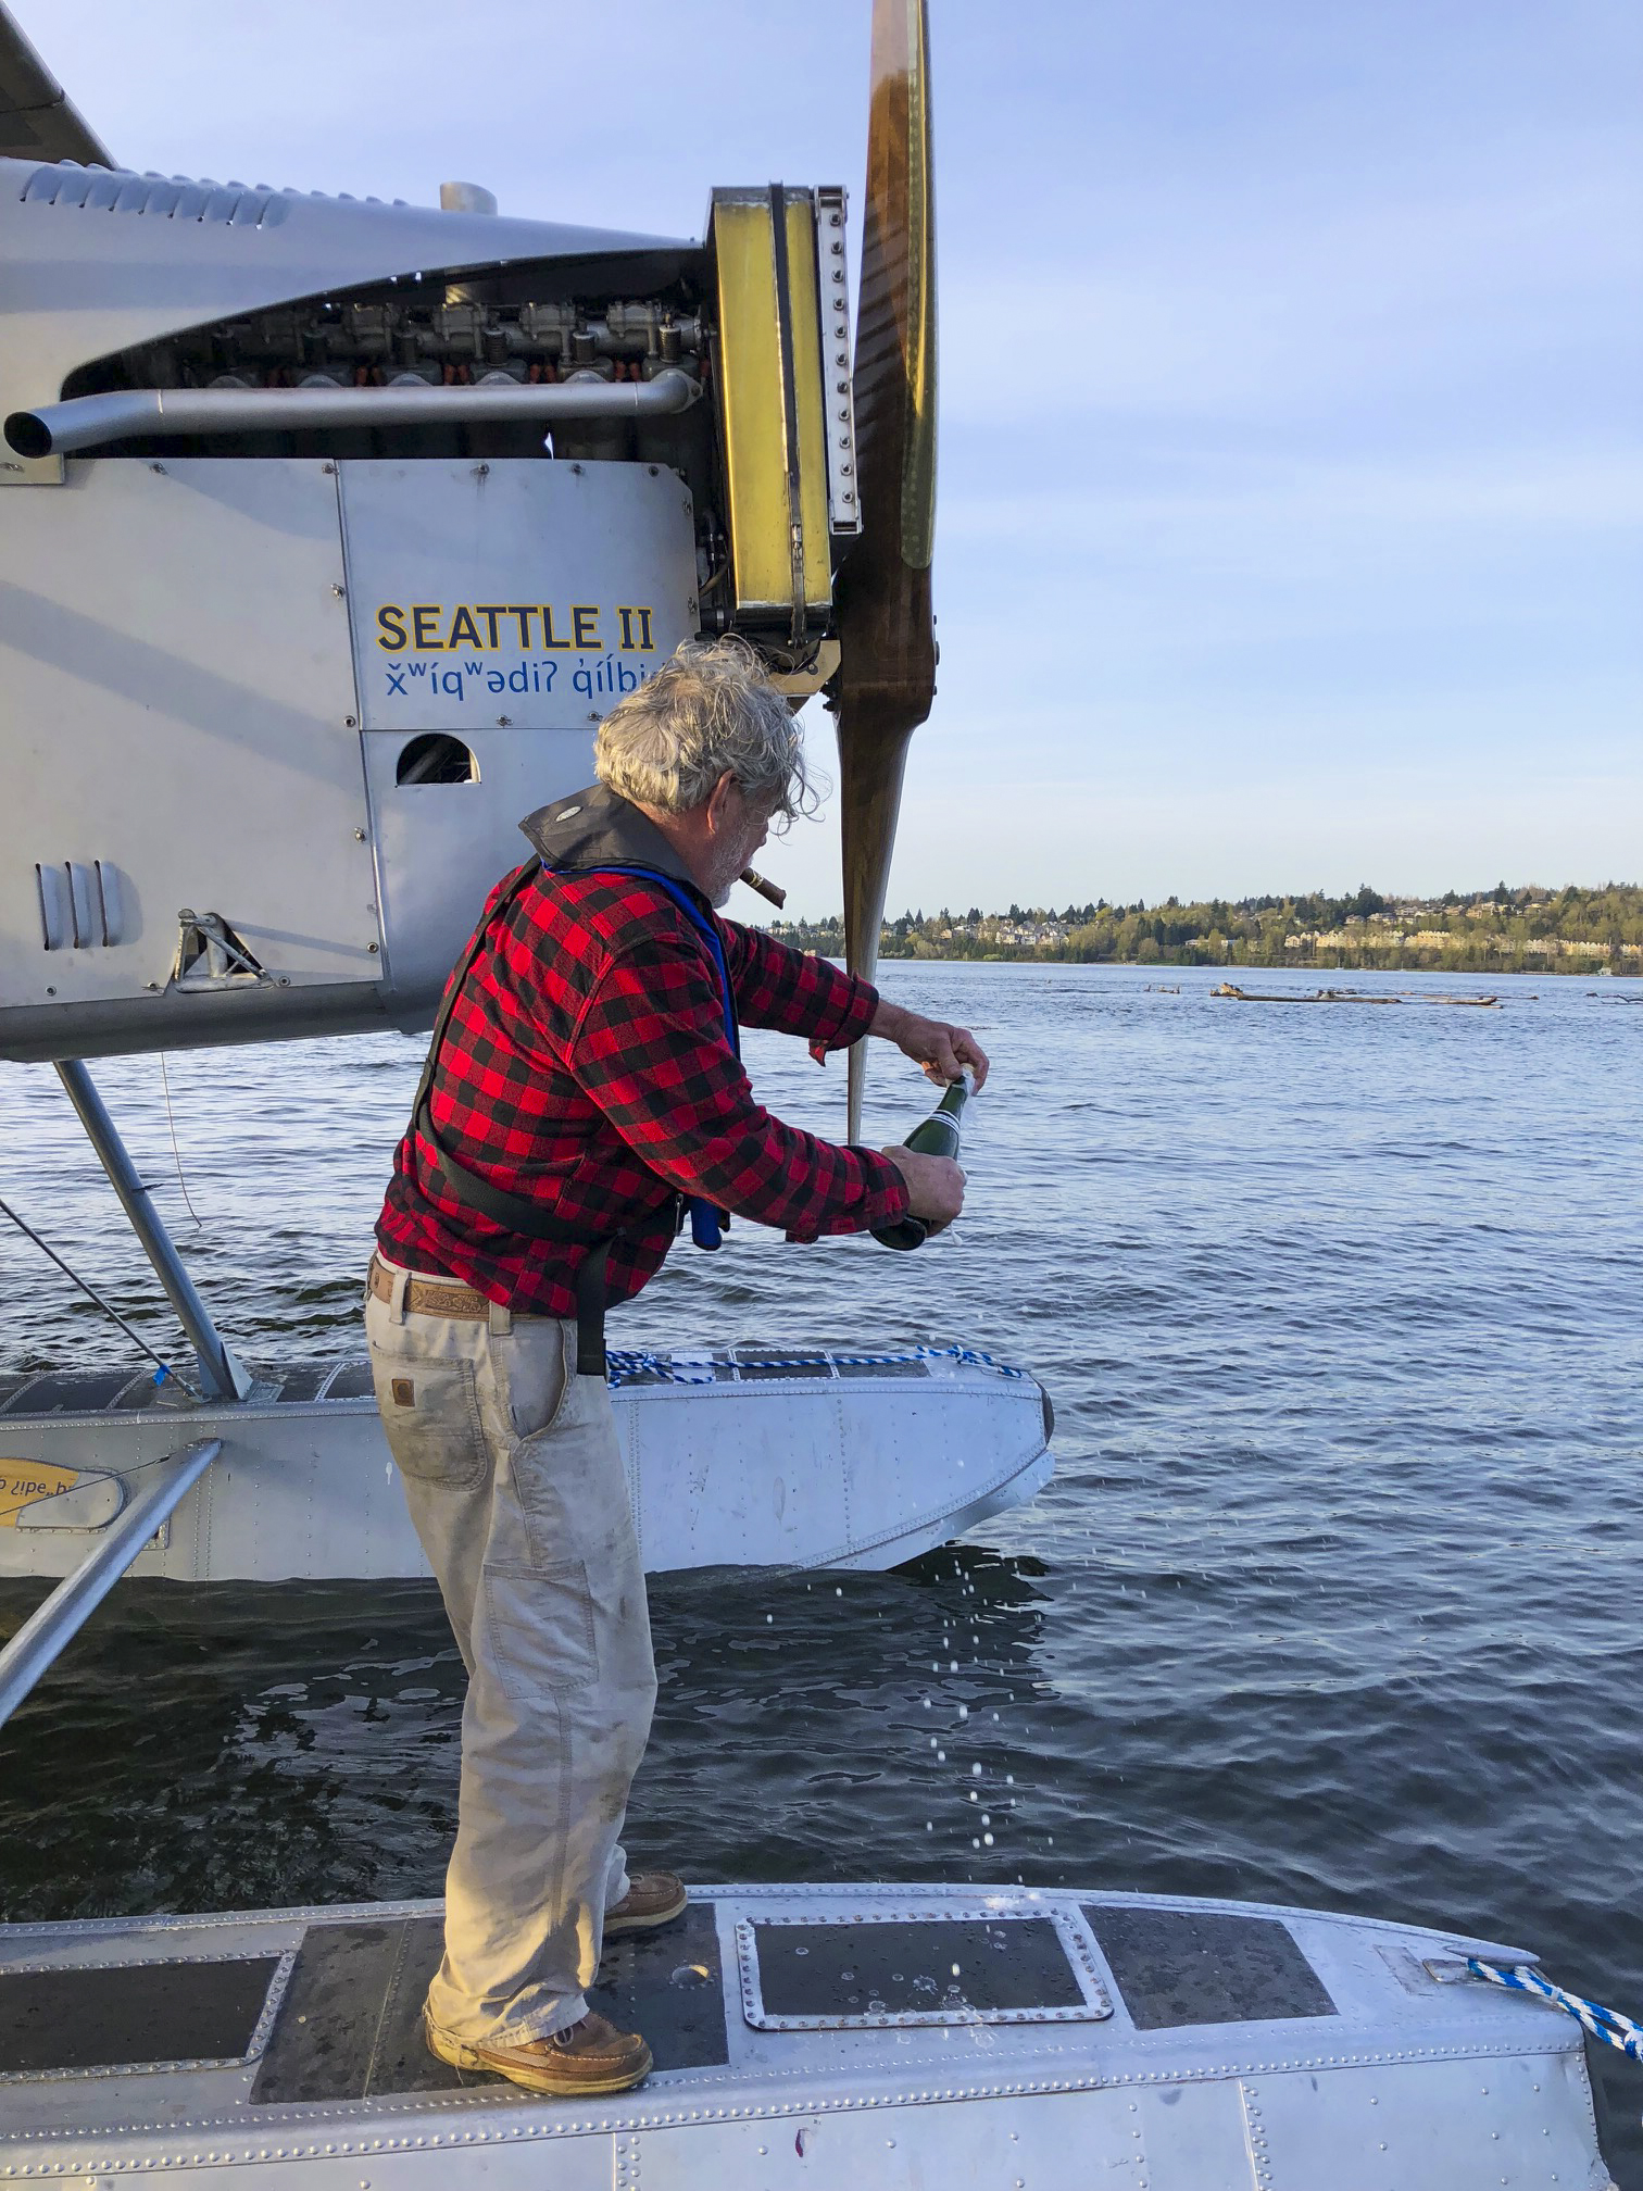
{"type": "MultiPolygon", "coordinates": [[[[0,1056],[55,1065],[193,1350],[0,1383],[0,1575],[64,1578],[57,1641],[127,1564],[423,1573],[366,1363],[237,1356],[88,1060],[425,1028],[519,817],[723,631],[835,703],[872,968],[933,690],[933,296],[911,171],[852,355],[839,188],[721,188],[677,241],[138,175],[15,26],[0,66],[0,1056]]],[[[984,1345],[640,1337],[613,1383],[651,1569],[892,1567],[1052,1470],[984,1345]]]]}

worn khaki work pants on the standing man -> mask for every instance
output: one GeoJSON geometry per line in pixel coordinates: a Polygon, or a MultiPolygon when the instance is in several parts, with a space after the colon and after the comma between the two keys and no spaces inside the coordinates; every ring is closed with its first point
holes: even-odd
{"type": "MultiPolygon", "coordinates": [[[[445,1961],[451,2038],[548,2038],[587,2009],[629,1889],[627,1794],[655,1705],[651,1615],[605,1378],[576,1326],[366,1297],[370,1374],[469,1670],[445,1961]]],[[[451,1284],[449,1280],[434,1280],[451,1284]]]]}

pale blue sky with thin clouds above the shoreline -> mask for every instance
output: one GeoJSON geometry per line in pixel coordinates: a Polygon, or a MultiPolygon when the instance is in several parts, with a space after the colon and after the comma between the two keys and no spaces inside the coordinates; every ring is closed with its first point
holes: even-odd
{"type": "MultiPolygon", "coordinates": [[[[129,167],[681,234],[863,167],[868,0],[13,4],[129,167]]],[[[1634,0],[931,15],[892,903],[1643,879],[1634,0]]],[[[771,868],[839,903],[830,824],[771,868]]]]}

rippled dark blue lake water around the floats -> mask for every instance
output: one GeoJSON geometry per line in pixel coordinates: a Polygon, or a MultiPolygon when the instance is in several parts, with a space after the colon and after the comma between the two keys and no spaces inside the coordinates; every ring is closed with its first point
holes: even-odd
{"type": "MultiPolygon", "coordinates": [[[[677,1249],[613,1323],[962,1337],[1058,1409],[1052,1488],[957,1549],[653,1584],[635,1856],[1369,1911],[1538,1948],[1639,2014],[1643,986],[1303,1010],[1211,999],[1216,979],[887,966],[889,995],[995,1060],[964,1225],[916,1258],[738,1227],[714,1260],[677,1249]]],[[[839,1060],[747,1049],[773,1109],[841,1133],[839,1060]]],[[[927,1102],[874,1049],[883,1142],[927,1102]]],[[[173,1056],[199,1225],[160,1060],[96,1069],[243,1354],[359,1352],[418,1052],[173,1056]]],[[[0,1067],[0,1192],[175,1350],[55,1076],[0,1067]]],[[[0,1369],[131,1358],[2,1223],[0,1258],[0,1369]]],[[[0,1599],[0,1626],[28,1604],[0,1599]]],[[[460,1698],[432,1588],[123,1586],[0,1733],[0,1908],[436,1893],[460,1698]]],[[[1612,2160],[1643,2184],[1643,2070],[1601,2070],[1612,2160]]]]}

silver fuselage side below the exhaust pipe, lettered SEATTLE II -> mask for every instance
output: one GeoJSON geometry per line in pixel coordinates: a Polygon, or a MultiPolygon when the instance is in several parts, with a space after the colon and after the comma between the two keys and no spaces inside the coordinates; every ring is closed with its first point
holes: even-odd
{"type": "Polygon", "coordinates": [[[690,495],[655,464],[99,458],[4,515],[22,1056],[425,1019],[519,819],[694,631],[690,495]],[[427,732],[473,780],[399,782],[427,732]],[[263,977],[175,988],[184,907],[263,977]]]}

